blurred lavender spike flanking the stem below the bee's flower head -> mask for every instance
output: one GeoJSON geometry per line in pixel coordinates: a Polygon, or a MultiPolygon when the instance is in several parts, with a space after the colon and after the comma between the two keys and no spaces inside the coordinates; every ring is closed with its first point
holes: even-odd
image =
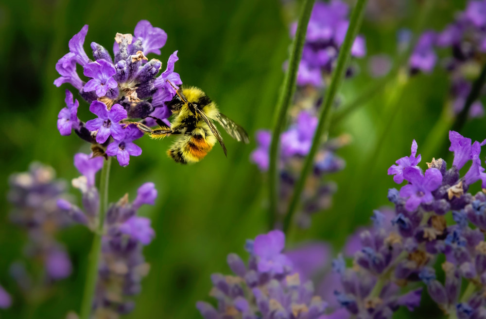
{"type": "MultiPolygon", "coordinates": [[[[103,160],[82,153],[74,157],[74,165],[82,175],[74,179],[72,184],[82,192],[84,209],[65,199],[57,200],[57,207],[73,221],[92,230],[98,227],[99,220],[99,192],[94,180],[95,174],[103,166],[103,160]]],[[[141,279],[150,268],[144,260],[142,249],[155,237],[150,219],[137,216],[137,210],[143,204],[154,205],[156,197],[155,185],[145,183],[140,186],[133,202],[129,202],[126,194],[106,211],[99,278],[93,303],[96,318],[118,318],[119,314],[128,313],[135,306],[129,297],[140,292],[141,279]]]]}

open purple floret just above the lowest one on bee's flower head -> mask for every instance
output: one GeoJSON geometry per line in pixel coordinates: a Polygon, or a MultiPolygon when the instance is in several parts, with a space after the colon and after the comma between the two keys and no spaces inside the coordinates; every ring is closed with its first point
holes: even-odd
{"type": "Polygon", "coordinates": [[[87,129],[98,131],[96,142],[104,143],[110,135],[115,140],[122,140],[125,137],[126,130],[119,123],[127,117],[127,112],[120,104],[113,105],[108,111],[106,104],[95,100],[89,106],[89,111],[98,115],[98,118],[86,122],[87,129]]]}

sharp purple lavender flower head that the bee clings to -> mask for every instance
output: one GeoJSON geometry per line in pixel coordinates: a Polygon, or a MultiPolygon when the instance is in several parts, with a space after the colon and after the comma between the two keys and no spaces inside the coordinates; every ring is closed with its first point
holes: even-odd
{"type": "Polygon", "coordinates": [[[84,48],[88,26],[69,40],[69,53],[56,64],[60,77],[56,86],[69,83],[80,96],[90,103],[89,111],[97,116],[84,123],[77,117],[78,100],[66,90],[66,107],[58,115],[57,128],[61,135],[70,135],[72,129],[85,141],[97,144],[107,156],[116,156],[121,166],[129,163],[130,156],[139,156],[141,148],[133,143],[143,134],[135,126],[124,127],[122,120],[147,119],[153,126],[153,118],[166,119],[171,115],[165,102],[175,95],[174,85],[182,84],[179,74],[174,72],[178,60],[175,51],[160,75],[162,63],[150,61],[149,53],[160,54],[167,34],[150,22],[141,20],[135,27],[134,35],[117,33],[113,46],[114,59],[106,48],[91,43],[93,60],[84,48]],[[76,72],[76,65],[83,68],[85,80],[76,72]],[[157,76],[158,75],[158,76],[157,76]]]}

